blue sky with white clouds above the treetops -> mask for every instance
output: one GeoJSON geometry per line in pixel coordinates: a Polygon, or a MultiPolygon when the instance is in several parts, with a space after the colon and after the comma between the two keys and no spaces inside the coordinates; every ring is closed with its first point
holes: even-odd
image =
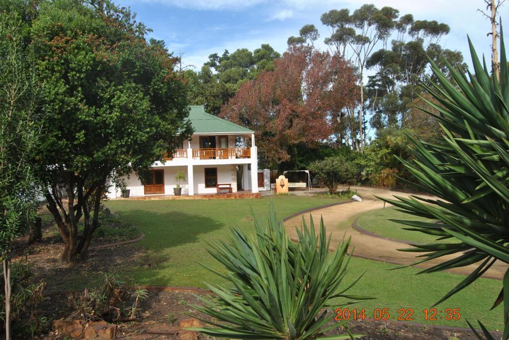
{"type": "MultiPolygon", "coordinates": [[[[320,41],[329,35],[320,16],[331,9],[351,11],[365,3],[377,7],[391,6],[400,14],[411,13],[415,19],[438,20],[451,27],[441,43],[458,49],[468,56],[466,36],[470,35],[478,52],[490,51],[491,39],[486,36],[489,21],[477,11],[482,0],[116,0],[131,7],[137,19],[154,32],[152,37],[163,39],[170,51],[184,53],[184,64],[197,69],[210,53],[233,52],[237,48],[250,50],[269,43],[279,52],[286,49],[291,35],[300,27],[313,23],[320,30],[320,41]]],[[[509,17],[509,3],[502,7],[502,18],[509,17]]],[[[509,25],[506,25],[509,27],[509,25]]],[[[509,30],[509,28],[507,28],[509,30]]],[[[325,47],[325,46],[324,46],[325,47]]],[[[468,62],[469,60],[467,60],[468,62]]],[[[470,64],[470,63],[469,63],[470,64]]]]}

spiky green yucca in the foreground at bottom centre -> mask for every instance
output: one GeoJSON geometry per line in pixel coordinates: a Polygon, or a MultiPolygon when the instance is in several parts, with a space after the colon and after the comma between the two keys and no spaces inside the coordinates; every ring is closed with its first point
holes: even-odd
{"type": "Polygon", "coordinates": [[[267,221],[255,221],[256,233],[247,236],[232,228],[227,241],[210,241],[210,254],[227,269],[221,274],[231,287],[208,285],[215,294],[197,296],[204,305],[193,305],[219,322],[205,321],[214,328],[193,328],[211,336],[236,339],[345,339],[354,337],[347,321],[329,323],[334,317],[327,310],[358,300],[347,295],[344,284],[350,256],[350,239],[329,252],[330,237],[323,221],[318,233],[313,221],[303,223],[299,242],[290,241],[271,206],[267,221]],[[340,304],[333,300],[339,298],[340,304]],[[224,323],[221,323],[224,322],[224,323]],[[348,334],[324,336],[323,333],[343,326],[348,334]]]}

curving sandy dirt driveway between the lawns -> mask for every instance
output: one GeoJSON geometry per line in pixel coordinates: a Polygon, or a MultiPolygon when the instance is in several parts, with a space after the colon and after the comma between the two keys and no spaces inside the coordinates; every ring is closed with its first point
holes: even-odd
{"type": "MultiPolygon", "coordinates": [[[[315,210],[310,213],[313,216],[315,223],[320,221],[320,217],[323,218],[325,226],[327,227],[327,232],[332,233],[331,244],[340,243],[346,232],[346,237],[352,237],[351,246],[355,247],[354,256],[356,257],[394,264],[410,264],[416,262],[417,259],[415,258],[415,255],[418,255],[417,253],[400,252],[397,250],[401,248],[409,248],[409,246],[406,246],[400,242],[386,240],[360,233],[351,227],[351,223],[345,223],[347,221],[351,221],[354,217],[364,212],[383,208],[383,202],[377,199],[375,195],[389,198],[393,195],[408,197],[410,194],[369,187],[352,187],[352,189],[357,190],[359,196],[362,197],[362,202],[352,201],[351,203],[335,205],[332,207],[315,210]]],[[[427,197],[426,195],[419,196],[427,197]]],[[[304,214],[304,219],[309,222],[309,213],[304,214]]],[[[285,222],[285,228],[290,237],[297,237],[295,227],[300,226],[301,222],[302,215],[294,217],[285,222]]],[[[416,265],[416,267],[429,268],[451,258],[453,257],[444,256],[440,259],[435,259],[423,264],[416,265]]],[[[505,271],[507,270],[507,267],[508,266],[505,263],[497,261],[483,276],[491,277],[492,279],[502,279],[505,271]]],[[[451,269],[450,272],[468,275],[475,268],[476,264],[451,269]]]]}

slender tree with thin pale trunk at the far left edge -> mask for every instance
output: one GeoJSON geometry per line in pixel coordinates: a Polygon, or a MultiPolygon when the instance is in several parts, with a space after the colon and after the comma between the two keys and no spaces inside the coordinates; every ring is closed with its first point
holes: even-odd
{"type": "MultiPolygon", "coordinates": [[[[4,4],[5,5],[5,4],[4,4]]],[[[3,261],[5,329],[10,339],[11,244],[35,218],[37,181],[30,155],[38,142],[40,85],[16,11],[0,12],[0,260],[3,261]]]]}

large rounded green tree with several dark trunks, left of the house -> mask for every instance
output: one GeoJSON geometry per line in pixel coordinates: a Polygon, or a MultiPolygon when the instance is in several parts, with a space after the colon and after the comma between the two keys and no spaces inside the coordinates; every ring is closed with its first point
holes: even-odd
{"type": "Polygon", "coordinates": [[[109,185],[131,171],[143,175],[177,135],[191,133],[177,58],[148,43],[147,32],[109,1],[39,4],[31,44],[48,84],[47,128],[33,161],[64,261],[86,257],[109,185]]]}

